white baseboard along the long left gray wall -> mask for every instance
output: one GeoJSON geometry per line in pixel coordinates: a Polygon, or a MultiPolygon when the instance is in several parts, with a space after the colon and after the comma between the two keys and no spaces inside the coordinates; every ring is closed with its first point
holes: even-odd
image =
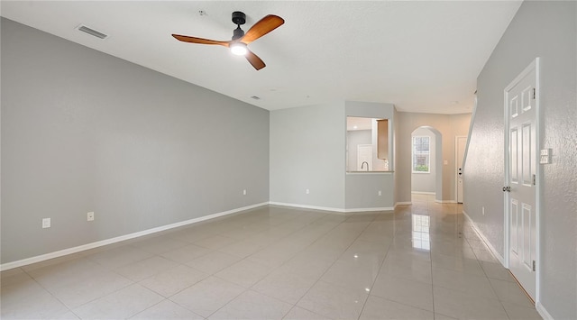
{"type": "Polygon", "coordinates": [[[91,243],[79,245],[78,247],[73,247],[73,248],[68,248],[68,249],[64,249],[64,250],[60,250],[60,251],[45,253],[45,254],[41,254],[39,256],[26,258],[26,259],[19,260],[19,261],[6,262],[6,263],[3,263],[0,265],[0,270],[2,270],[2,271],[10,270],[10,269],[22,267],[22,266],[25,266],[28,264],[40,262],[40,261],[46,261],[46,260],[62,257],[65,255],[68,255],[68,254],[72,254],[72,253],[76,253],[76,252],[80,252],[80,251],[86,251],[86,250],[94,249],[97,247],[102,247],[102,246],[105,246],[107,244],[112,244],[115,242],[122,242],[125,240],[142,237],[142,235],[147,235],[147,234],[151,234],[151,233],[159,233],[161,231],[165,231],[165,230],[169,230],[169,229],[173,229],[173,228],[178,228],[179,226],[183,226],[183,225],[187,225],[187,224],[196,224],[196,223],[199,223],[201,221],[206,221],[206,220],[217,218],[219,216],[232,215],[232,214],[235,214],[237,212],[249,210],[249,209],[252,209],[255,207],[259,207],[259,206],[266,206],[266,205],[268,205],[267,202],[263,202],[263,203],[252,205],[252,206],[243,206],[240,208],[216,213],[213,215],[204,215],[204,216],[200,216],[200,217],[197,217],[194,219],[181,221],[181,222],[176,223],[176,224],[166,224],[166,225],[162,225],[162,226],[159,226],[156,228],[142,230],[142,231],[139,231],[137,233],[124,234],[124,235],[121,235],[118,237],[114,237],[114,238],[110,238],[110,239],[106,239],[106,240],[102,240],[102,241],[98,241],[98,242],[91,242],[91,243]]]}

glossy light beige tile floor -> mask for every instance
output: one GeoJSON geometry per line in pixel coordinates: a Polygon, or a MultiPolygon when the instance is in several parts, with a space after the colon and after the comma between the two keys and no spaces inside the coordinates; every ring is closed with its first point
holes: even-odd
{"type": "Polygon", "coordinates": [[[540,319],[459,205],[263,206],[2,272],[3,319],[540,319]]]}

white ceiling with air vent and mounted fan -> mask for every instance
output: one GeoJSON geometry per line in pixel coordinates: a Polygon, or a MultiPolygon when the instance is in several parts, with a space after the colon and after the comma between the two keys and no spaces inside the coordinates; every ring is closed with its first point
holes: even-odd
{"type": "Polygon", "coordinates": [[[476,78],[520,1],[2,1],[2,16],[175,78],[275,110],[335,100],[399,111],[472,111],[476,78]],[[206,15],[200,15],[202,10],[206,15]],[[171,33],[230,40],[266,14],[285,24],[249,46],[256,71],[226,48],[171,33]],[[109,34],[99,40],[75,28],[109,34]],[[251,96],[259,96],[254,100],[251,96]]]}

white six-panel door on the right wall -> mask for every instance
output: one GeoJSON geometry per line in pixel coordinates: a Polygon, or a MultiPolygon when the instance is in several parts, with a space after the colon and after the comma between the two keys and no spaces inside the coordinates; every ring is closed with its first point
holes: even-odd
{"type": "MultiPolygon", "coordinates": [[[[535,299],[536,293],[536,70],[506,91],[509,270],[535,299]]],[[[509,86],[510,87],[510,86],[509,86]]]]}

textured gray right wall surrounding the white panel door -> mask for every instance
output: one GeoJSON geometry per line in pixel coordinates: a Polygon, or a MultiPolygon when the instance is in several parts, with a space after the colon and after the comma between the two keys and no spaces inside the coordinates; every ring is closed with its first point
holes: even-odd
{"type": "Polygon", "coordinates": [[[577,4],[526,1],[478,78],[478,107],[464,169],[464,210],[503,254],[503,89],[541,57],[543,166],[540,300],[555,319],[577,318],[577,4]],[[481,215],[485,206],[485,215],[481,215]]]}

